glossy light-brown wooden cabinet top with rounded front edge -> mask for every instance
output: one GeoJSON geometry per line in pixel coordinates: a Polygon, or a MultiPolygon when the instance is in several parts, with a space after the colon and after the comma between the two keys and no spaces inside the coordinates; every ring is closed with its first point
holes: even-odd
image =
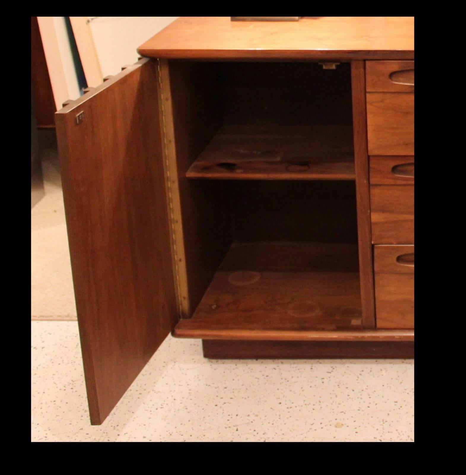
{"type": "Polygon", "coordinates": [[[138,52],[180,59],[413,59],[414,17],[181,17],[138,52]]]}

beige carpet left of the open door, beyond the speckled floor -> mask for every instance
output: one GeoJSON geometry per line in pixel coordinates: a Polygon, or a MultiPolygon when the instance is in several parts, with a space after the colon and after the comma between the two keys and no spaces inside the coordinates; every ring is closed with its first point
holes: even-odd
{"type": "Polygon", "coordinates": [[[31,320],[76,320],[56,152],[42,161],[45,196],[31,209],[31,320]]]}

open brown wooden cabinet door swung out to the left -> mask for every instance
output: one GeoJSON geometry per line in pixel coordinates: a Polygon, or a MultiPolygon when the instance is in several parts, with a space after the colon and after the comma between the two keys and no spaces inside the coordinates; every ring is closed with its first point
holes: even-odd
{"type": "Polygon", "coordinates": [[[92,424],[177,322],[157,82],[141,59],[56,113],[92,424]]]}

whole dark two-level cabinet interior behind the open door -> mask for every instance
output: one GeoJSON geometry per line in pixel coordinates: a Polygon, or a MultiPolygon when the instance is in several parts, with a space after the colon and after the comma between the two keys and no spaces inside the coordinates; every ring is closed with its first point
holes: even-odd
{"type": "Polygon", "coordinates": [[[362,328],[350,64],[169,76],[191,317],[175,336],[362,328]]]}

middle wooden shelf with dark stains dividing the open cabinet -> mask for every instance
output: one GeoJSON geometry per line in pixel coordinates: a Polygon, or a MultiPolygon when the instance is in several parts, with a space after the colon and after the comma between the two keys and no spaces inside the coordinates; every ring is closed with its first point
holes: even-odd
{"type": "Polygon", "coordinates": [[[186,172],[211,180],[354,180],[348,125],[224,125],[186,172]]]}

